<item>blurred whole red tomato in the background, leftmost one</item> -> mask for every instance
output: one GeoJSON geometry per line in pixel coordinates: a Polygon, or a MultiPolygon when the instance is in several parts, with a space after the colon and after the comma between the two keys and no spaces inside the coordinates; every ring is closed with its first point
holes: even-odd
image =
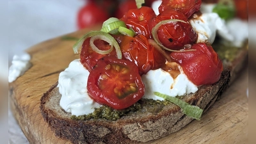
{"type": "Polygon", "coordinates": [[[97,4],[88,2],[77,14],[77,27],[79,29],[102,24],[109,17],[108,13],[99,8],[97,4]]]}

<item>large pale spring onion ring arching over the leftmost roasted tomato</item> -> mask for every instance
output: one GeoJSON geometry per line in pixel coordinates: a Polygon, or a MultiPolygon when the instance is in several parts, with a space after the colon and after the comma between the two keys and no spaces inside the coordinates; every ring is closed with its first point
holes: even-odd
{"type": "MultiPolygon", "coordinates": [[[[122,59],[122,52],[120,50],[120,46],[118,45],[118,43],[116,42],[115,38],[113,38],[113,36],[109,35],[108,33],[105,33],[103,31],[90,31],[89,33],[86,33],[86,35],[84,35],[83,37],[81,37],[76,44],[74,44],[73,46],[73,51],[75,54],[78,53],[78,49],[81,48],[81,46],[83,45],[84,40],[86,40],[86,38],[92,37],[92,36],[96,36],[94,37],[94,39],[96,40],[97,38],[99,38],[100,35],[100,39],[106,40],[106,42],[109,43],[109,45],[111,45],[111,47],[115,47],[116,49],[116,54],[117,54],[117,58],[118,59],[122,59]],[[113,45],[113,46],[112,46],[113,45]]],[[[92,39],[92,38],[91,38],[92,39]]],[[[91,43],[91,42],[90,42],[91,43]]],[[[94,44],[93,44],[94,45],[94,44]]],[[[92,45],[91,45],[92,46],[92,45]]],[[[92,46],[93,47],[93,46],[92,46]]],[[[94,47],[95,48],[95,47],[94,47]]],[[[98,48],[97,48],[98,49],[98,48]]],[[[93,50],[95,51],[95,50],[93,50]]],[[[97,50],[95,51],[97,52],[97,50]]]]}

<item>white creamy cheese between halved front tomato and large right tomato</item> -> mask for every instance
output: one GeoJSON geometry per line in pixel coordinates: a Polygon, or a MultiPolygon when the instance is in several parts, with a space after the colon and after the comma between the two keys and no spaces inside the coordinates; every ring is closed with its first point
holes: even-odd
{"type": "Polygon", "coordinates": [[[144,99],[164,100],[161,97],[154,95],[154,92],[164,93],[172,97],[186,95],[187,93],[195,93],[198,88],[195,84],[189,81],[188,77],[179,67],[180,74],[175,79],[161,68],[157,70],[149,70],[143,75],[142,81],[145,84],[144,99]]]}

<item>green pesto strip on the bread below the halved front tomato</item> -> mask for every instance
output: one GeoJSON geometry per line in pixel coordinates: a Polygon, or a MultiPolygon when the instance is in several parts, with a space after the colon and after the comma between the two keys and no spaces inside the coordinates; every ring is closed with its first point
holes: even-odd
{"type": "Polygon", "coordinates": [[[163,109],[164,106],[171,104],[168,100],[152,100],[152,99],[141,99],[129,108],[116,110],[110,108],[109,106],[101,106],[100,108],[96,108],[93,113],[88,115],[75,116],[72,115],[71,119],[73,120],[90,120],[90,119],[99,119],[103,118],[106,120],[117,120],[122,116],[128,116],[131,113],[145,113],[145,109],[149,113],[159,113],[163,109]]]}

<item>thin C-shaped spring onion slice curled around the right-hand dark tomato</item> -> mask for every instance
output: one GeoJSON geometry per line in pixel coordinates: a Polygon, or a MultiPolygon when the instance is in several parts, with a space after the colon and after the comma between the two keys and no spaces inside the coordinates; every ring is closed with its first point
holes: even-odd
{"type": "Polygon", "coordinates": [[[156,26],[152,29],[152,36],[154,38],[154,40],[156,41],[156,43],[158,45],[160,45],[160,47],[162,47],[163,49],[165,49],[166,51],[173,51],[173,52],[184,52],[184,51],[195,51],[195,49],[189,49],[189,50],[184,50],[184,49],[180,49],[180,50],[172,50],[172,49],[168,49],[167,47],[164,47],[164,45],[160,42],[158,35],[157,35],[157,31],[159,29],[159,27],[163,24],[170,24],[172,22],[185,22],[184,20],[179,20],[179,19],[168,19],[168,20],[162,20],[161,22],[159,22],[158,24],[156,24],[156,26]]]}

